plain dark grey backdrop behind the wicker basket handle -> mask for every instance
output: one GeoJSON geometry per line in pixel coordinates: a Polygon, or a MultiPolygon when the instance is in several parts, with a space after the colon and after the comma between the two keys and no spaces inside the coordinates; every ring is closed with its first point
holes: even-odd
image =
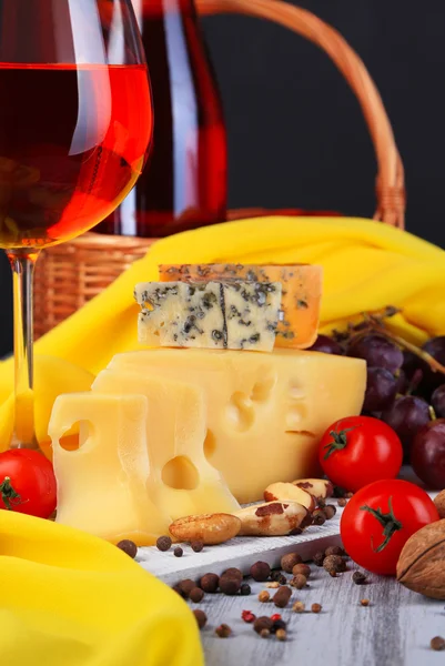
{"type": "MultiPolygon", "coordinates": [[[[274,0],[271,0],[273,2],[274,0]]],[[[445,246],[445,2],[302,0],[358,52],[381,91],[406,169],[407,229],[445,246]]],[[[328,57],[284,28],[212,17],[205,33],[230,150],[230,205],[372,216],[376,165],[360,107],[328,57]]],[[[0,262],[0,354],[11,347],[0,262]]]]}

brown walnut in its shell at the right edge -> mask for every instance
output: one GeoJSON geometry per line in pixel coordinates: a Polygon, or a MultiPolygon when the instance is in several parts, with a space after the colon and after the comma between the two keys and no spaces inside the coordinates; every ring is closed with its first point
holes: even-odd
{"type": "Polygon", "coordinates": [[[445,599],[445,519],[431,523],[406,542],[397,562],[397,581],[433,599],[445,599]]]}

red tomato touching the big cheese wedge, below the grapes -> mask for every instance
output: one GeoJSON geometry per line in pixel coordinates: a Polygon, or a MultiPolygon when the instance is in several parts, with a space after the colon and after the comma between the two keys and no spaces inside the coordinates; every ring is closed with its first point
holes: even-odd
{"type": "Polygon", "coordinates": [[[396,433],[371,416],[350,416],[332,424],[320,443],[318,460],[326,476],[347,491],[381,478],[395,478],[403,447],[396,433]]]}

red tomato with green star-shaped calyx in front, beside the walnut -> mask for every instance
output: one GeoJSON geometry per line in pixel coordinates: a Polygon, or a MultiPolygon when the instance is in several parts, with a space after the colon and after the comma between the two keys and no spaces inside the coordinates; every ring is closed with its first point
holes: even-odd
{"type": "Polygon", "coordinates": [[[439,519],[431,497],[413,483],[377,481],[346,504],[340,529],[346,553],[375,574],[395,575],[412,534],[439,519]]]}

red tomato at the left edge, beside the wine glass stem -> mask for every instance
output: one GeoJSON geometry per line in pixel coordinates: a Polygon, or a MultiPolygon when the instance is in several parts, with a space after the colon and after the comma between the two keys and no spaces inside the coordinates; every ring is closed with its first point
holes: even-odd
{"type": "Polygon", "coordinates": [[[42,453],[29,448],[0,453],[0,508],[49,518],[55,503],[54,472],[42,453]]]}

